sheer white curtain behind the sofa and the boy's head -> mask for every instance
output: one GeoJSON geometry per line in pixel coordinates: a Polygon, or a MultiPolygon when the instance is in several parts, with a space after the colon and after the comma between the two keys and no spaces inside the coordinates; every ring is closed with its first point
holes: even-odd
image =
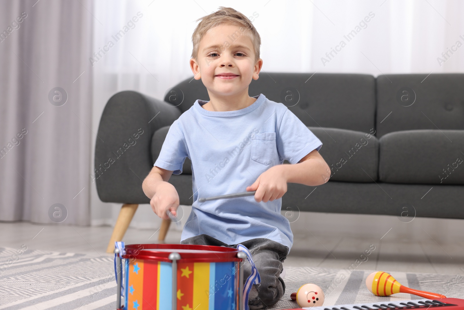
{"type": "MultiPolygon", "coordinates": [[[[464,71],[464,46],[457,47],[457,41],[464,44],[460,0],[99,0],[93,51],[103,50],[109,41],[114,46],[92,61],[93,131],[114,93],[131,89],[163,99],[170,87],[191,77],[188,61],[195,20],[219,6],[254,17],[262,39],[261,74],[424,73],[425,77],[464,71]],[[113,36],[124,29],[128,31],[116,41],[113,36]],[[442,53],[448,53],[446,59],[442,53]]],[[[92,147],[95,139],[92,135],[92,147]]],[[[101,203],[93,187],[92,223],[114,222],[119,207],[101,203]]],[[[149,207],[137,213],[133,224],[144,218],[153,224],[145,220],[142,226],[158,224],[149,207]]]]}

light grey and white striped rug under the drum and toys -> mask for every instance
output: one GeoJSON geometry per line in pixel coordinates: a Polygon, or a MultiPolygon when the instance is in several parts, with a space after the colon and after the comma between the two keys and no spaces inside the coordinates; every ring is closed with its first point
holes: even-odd
{"type": "MultiPolygon", "coordinates": [[[[290,293],[306,283],[325,292],[324,305],[419,299],[409,294],[376,297],[364,281],[376,270],[336,270],[285,266],[284,297],[270,309],[297,308],[290,293]]],[[[387,271],[388,270],[382,270],[387,271]]],[[[391,272],[401,284],[448,297],[464,298],[462,275],[391,272]]],[[[0,310],[116,309],[113,257],[0,248],[0,310]]]]}

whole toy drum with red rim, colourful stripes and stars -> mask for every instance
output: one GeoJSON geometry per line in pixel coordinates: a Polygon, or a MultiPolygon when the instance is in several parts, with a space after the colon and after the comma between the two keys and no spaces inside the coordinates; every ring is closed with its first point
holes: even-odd
{"type": "Polygon", "coordinates": [[[243,310],[240,262],[245,252],[223,246],[117,244],[117,309],[243,310]]]}

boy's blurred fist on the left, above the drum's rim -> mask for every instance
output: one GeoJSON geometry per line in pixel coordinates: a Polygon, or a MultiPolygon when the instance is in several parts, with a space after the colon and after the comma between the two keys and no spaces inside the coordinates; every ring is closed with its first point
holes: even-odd
{"type": "Polygon", "coordinates": [[[162,219],[169,219],[166,211],[172,211],[176,216],[176,210],[179,206],[179,194],[174,185],[168,182],[160,182],[156,186],[155,195],[150,200],[151,209],[162,219]]]}

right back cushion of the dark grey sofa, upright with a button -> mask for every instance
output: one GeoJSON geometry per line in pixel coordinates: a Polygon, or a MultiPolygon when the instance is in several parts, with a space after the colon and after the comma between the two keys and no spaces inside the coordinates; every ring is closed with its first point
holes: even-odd
{"type": "Polygon", "coordinates": [[[464,74],[387,74],[376,79],[376,136],[415,129],[464,130],[464,74]]]}

